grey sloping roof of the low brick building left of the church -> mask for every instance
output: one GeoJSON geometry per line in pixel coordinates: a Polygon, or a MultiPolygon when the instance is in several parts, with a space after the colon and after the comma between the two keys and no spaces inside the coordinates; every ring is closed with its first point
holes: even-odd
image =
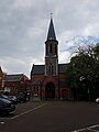
{"type": "Polygon", "coordinates": [[[20,81],[24,75],[23,74],[14,74],[14,75],[7,75],[7,81],[20,81]]]}

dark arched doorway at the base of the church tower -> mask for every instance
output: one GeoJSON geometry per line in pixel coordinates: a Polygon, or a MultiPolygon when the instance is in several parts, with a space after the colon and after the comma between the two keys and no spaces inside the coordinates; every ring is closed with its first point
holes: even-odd
{"type": "Polygon", "coordinates": [[[45,86],[45,99],[54,99],[55,98],[55,85],[53,82],[48,82],[45,86]]]}

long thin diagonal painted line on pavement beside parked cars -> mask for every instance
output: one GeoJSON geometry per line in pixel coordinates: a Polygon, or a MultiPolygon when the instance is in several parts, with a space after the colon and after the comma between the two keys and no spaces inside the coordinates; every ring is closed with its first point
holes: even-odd
{"type": "Polygon", "coordinates": [[[18,114],[18,116],[14,116],[14,117],[10,118],[10,120],[13,120],[13,119],[15,119],[15,118],[20,118],[21,116],[24,116],[24,114],[28,114],[28,113],[36,110],[36,109],[40,109],[40,108],[46,106],[47,103],[48,103],[48,102],[46,102],[46,103],[44,103],[44,105],[41,105],[41,106],[38,106],[38,107],[36,107],[36,108],[33,108],[33,109],[31,109],[31,110],[28,110],[28,111],[25,111],[25,112],[23,112],[23,113],[20,113],[20,114],[18,114]]]}

